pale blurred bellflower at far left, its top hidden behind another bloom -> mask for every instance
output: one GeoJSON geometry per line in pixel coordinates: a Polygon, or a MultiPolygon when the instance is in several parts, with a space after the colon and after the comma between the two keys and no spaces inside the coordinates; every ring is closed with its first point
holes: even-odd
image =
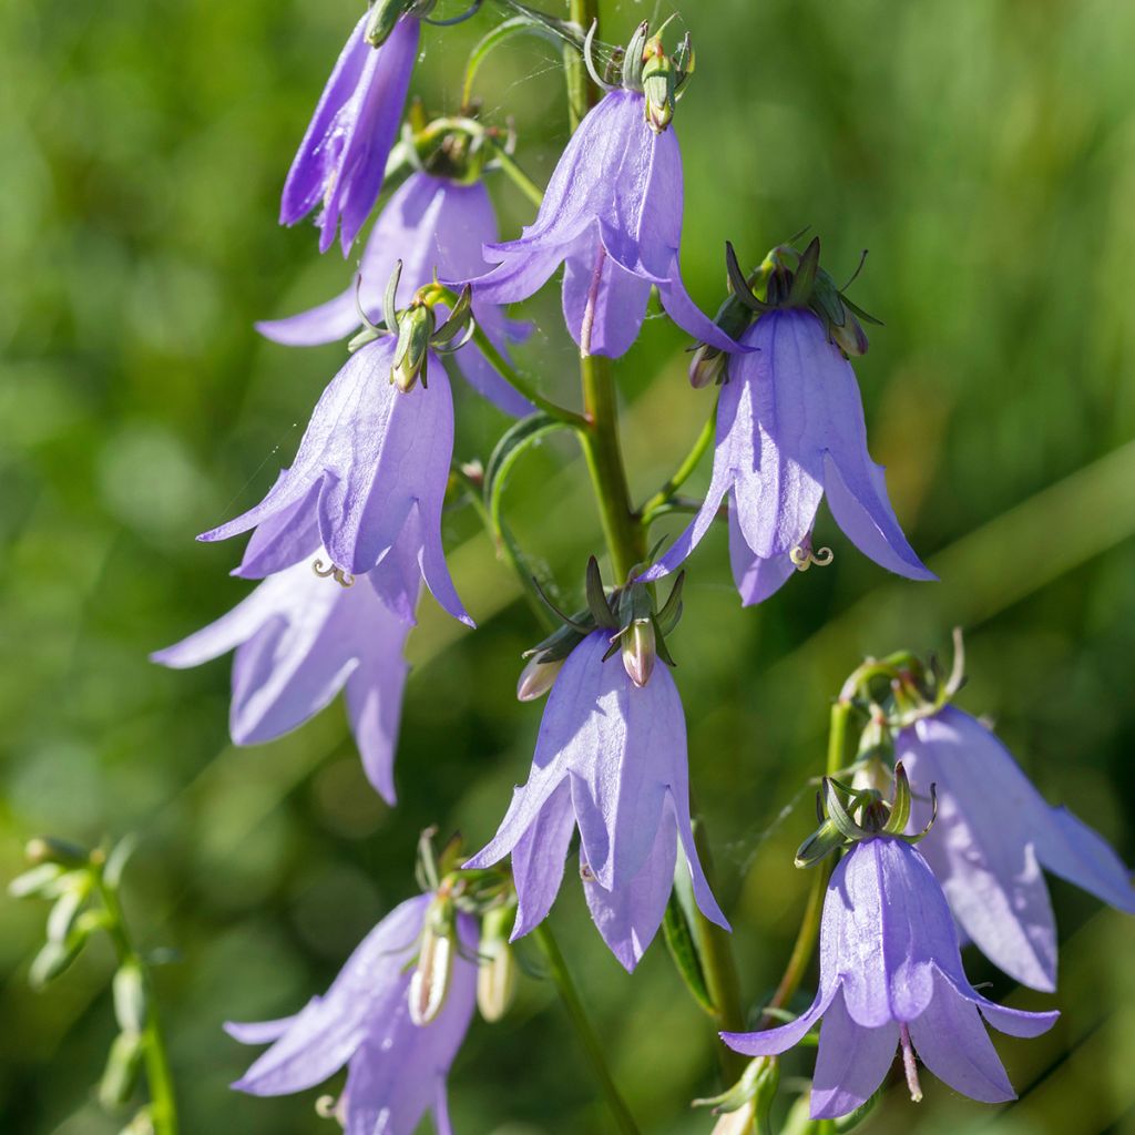
{"type": "MultiPolygon", "coordinates": [[[[257,536],[263,539],[266,530],[257,536]]],[[[313,550],[316,564],[321,555],[313,550]]],[[[403,648],[411,628],[381,597],[392,582],[401,592],[401,581],[389,579],[394,568],[388,560],[344,580],[350,582],[344,587],[320,578],[310,563],[294,564],[215,623],[151,658],[184,670],[235,651],[229,732],[237,745],[283,737],[345,689],[367,777],[394,804],[394,753],[409,670],[403,648]]]]}

